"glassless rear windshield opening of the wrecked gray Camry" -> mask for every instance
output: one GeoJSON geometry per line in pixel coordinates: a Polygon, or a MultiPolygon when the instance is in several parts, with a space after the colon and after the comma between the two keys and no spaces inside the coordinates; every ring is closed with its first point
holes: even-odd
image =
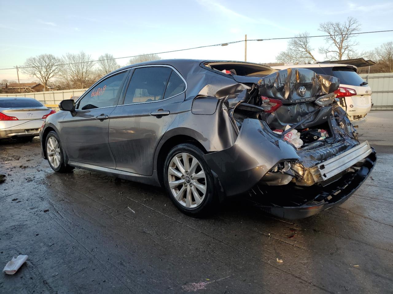
{"type": "Polygon", "coordinates": [[[277,71],[266,65],[245,62],[208,62],[205,66],[217,71],[229,71],[230,74],[236,76],[255,76],[261,78],[277,71]]]}

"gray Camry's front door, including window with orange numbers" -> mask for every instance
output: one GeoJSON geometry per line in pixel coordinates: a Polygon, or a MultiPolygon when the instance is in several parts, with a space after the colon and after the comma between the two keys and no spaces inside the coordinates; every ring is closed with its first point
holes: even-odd
{"type": "Polygon", "coordinates": [[[70,160],[115,168],[108,144],[110,114],[118,104],[128,71],[112,74],[93,85],[61,123],[61,140],[70,160]]]}

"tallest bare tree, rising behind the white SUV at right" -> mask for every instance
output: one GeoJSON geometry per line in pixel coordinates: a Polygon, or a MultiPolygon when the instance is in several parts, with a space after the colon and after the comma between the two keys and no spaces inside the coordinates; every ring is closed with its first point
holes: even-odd
{"type": "Polygon", "coordinates": [[[354,47],[358,45],[353,40],[360,31],[360,24],[356,18],[348,17],[341,22],[324,22],[318,29],[329,36],[325,37],[327,47],[320,47],[319,52],[324,54],[329,60],[342,60],[343,57],[351,58],[356,56],[354,47]]]}

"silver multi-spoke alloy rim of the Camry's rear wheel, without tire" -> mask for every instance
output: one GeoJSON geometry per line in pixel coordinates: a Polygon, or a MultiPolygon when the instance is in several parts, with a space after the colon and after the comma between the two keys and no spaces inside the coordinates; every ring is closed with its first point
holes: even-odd
{"type": "Polygon", "coordinates": [[[172,196],[186,208],[198,207],[206,196],[206,174],[199,161],[189,153],[176,154],[168,167],[172,196]]]}

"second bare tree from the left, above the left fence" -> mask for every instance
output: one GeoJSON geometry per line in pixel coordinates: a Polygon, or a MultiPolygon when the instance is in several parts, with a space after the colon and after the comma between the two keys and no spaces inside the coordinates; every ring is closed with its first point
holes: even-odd
{"type": "Polygon", "coordinates": [[[83,51],[63,56],[61,77],[70,87],[84,88],[92,85],[95,81],[94,61],[89,54],[83,51]]]}

